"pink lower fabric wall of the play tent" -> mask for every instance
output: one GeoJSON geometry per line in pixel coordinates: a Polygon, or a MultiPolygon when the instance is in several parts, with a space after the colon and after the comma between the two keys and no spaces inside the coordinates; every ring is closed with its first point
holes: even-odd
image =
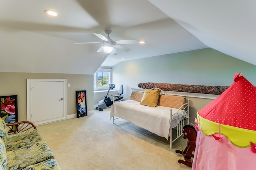
{"type": "Polygon", "coordinates": [[[215,140],[199,129],[192,170],[256,170],[256,154],[250,147],[240,148],[220,137],[222,141],[215,140]]]}

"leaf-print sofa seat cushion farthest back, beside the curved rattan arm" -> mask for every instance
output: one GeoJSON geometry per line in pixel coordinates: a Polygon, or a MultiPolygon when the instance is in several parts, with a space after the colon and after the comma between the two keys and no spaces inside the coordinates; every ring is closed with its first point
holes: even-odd
{"type": "Polygon", "coordinates": [[[6,151],[18,149],[22,146],[42,140],[42,137],[36,129],[26,130],[16,134],[8,135],[6,142],[6,151]]]}

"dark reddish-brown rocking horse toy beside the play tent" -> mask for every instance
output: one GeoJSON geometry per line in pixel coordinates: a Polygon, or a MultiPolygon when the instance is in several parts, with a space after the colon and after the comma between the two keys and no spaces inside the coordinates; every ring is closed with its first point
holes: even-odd
{"type": "Polygon", "coordinates": [[[184,164],[186,166],[192,167],[191,158],[194,157],[194,154],[192,154],[196,149],[196,129],[191,125],[184,125],[182,127],[183,130],[183,138],[188,139],[187,146],[184,150],[176,150],[176,153],[182,154],[184,157],[184,160],[178,160],[180,164],[184,164]]]}

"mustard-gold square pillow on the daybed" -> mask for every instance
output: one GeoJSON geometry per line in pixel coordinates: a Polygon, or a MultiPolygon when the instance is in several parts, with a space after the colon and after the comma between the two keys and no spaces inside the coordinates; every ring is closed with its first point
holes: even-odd
{"type": "Polygon", "coordinates": [[[150,107],[156,107],[160,92],[161,92],[161,89],[159,90],[145,89],[140,104],[145,106],[150,106],[150,107]]]}

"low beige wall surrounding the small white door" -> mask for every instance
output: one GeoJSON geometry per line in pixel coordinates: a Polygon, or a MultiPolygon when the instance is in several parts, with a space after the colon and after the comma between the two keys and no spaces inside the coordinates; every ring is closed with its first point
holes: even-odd
{"type": "Polygon", "coordinates": [[[87,111],[93,110],[93,75],[0,72],[0,96],[18,95],[18,121],[27,120],[27,79],[67,79],[67,115],[76,113],[78,90],[86,90],[87,111]]]}

